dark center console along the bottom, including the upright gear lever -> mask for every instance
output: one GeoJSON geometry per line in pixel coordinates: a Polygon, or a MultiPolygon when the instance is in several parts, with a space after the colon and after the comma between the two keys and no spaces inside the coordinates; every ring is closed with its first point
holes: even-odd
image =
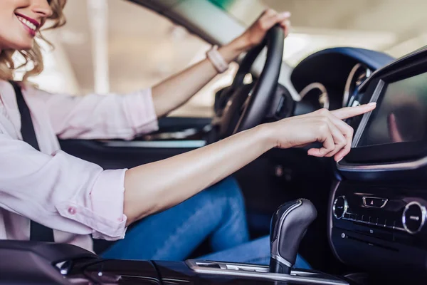
{"type": "Polygon", "coordinates": [[[0,284],[352,284],[344,277],[293,268],[300,241],[316,216],[307,199],[279,207],[271,222],[269,266],[110,260],[70,244],[0,241],[0,284]]]}

